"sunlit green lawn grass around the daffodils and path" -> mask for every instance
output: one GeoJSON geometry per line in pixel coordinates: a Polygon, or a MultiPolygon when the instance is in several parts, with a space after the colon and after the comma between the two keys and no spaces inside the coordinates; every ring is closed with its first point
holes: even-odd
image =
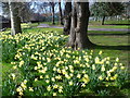
{"type": "MultiPolygon", "coordinates": [[[[38,24],[31,24],[31,25],[26,25],[26,24],[22,24],[22,28],[24,33],[38,33],[38,32],[44,32],[44,30],[56,30],[57,33],[62,34],[63,29],[62,28],[30,28],[30,27],[36,27],[38,24]]],[[[95,26],[95,27],[104,27],[104,26],[95,26]]],[[[110,28],[110,26],[107,26],[108,28],[110,28]]],[[[127,26],[113,26],[115,28],[126,28],[127,26]]],[[[100,30],[89,30],[89,33],[94,33],[94,34],[126,34],[125,32],[100,32],[100,30]]],[[[118,50],[118,49],[113,49],[114,46],[130,46],[130,44],[128,42],[128,35],[125,36],[108,36],[108,35],[89,35],[90,40],[93,44],[100,45],[100,46],[112,46],[110,49],[94,49],[94,52],[99,52],[100,50],[103,51],[103,57],[110,57],[112,59],[116,59],[117,57],[120,59],[120,62],[122,62],[125,65],[129,65],[128,60],[130,60],[130,57],[128,57],[128,53],[130,53],[129,50],[118,50]]],[[[10,69],[12,68],[12,65],[10,63],[4,63],[2,62],[2,74],[4,76],[4,74],[6,72],[10,71],[10,69]]],[[[123,88],[120,90],[123,95],[128,95],[128,93],[130,93],[129,88],[123,88]]],[[[86,91],[84,91],[86,93],[86,91]]],[[[82,93],[83,94],[83,93],[82,93]]],[[[81,95],[82,95],[81,94],[81,95]]],[[[91,93],[92,94],[92,93],[91,93]]],[[[90,95],[91,95],[90,94],[90,95]]]]}

